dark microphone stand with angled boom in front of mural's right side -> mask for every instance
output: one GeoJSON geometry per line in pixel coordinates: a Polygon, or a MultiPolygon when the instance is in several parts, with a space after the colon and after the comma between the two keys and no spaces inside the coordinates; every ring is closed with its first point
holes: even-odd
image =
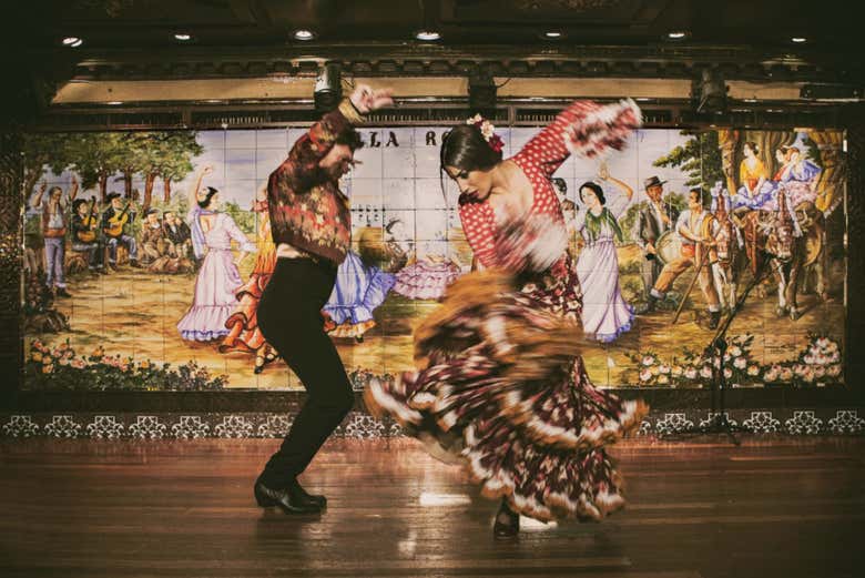
{"type": "Polygon", "coordinates": [[[757,271],[754,273],[747,287],[745,287],[745,291],[739,296],[735,305],[730,311],[730,314],[718,327],[714,337],[712,337],[712,341],[709,342],[703,351],[703,358],[711,359],[712,364],[712,416],[706,425],[699,426],[691,430],[694,434],[726,434],[730,440],[736,446],[741,445],[741,442],[733,435],[733,432],[744,432],[746,429],[731,424],[726,416],[726,406],[724,405],[724,392],[726,391],[726,377],[724,376],[724,353],[727,348],[726,332],[730,328],[730,324],[733,323],[733,318],[735,318],[745,304],[751,291],[762,283],[772,272],[772,267],[770,266],[771,257],[767,254],[763,254],[762,257],[763,258],[759,262],[757,271]],[[718,365],[715,364],[716,359],[720,359],[718,365]],[[715,397],[718,397],[718,405],[715,405],[715,397]],[[718,412],[715,412],[715,409],[718,409],[718,412]]]}

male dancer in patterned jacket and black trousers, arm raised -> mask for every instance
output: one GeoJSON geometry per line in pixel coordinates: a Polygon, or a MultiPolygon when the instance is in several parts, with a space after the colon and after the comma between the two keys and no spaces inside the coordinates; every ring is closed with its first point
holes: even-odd
{"type": "Polygon", "coordinates": [[[362,145],[354,126],[368,112],[391,103],[389,89],[357,84],[348,99],[294,143],[267,184],[277,258],[258,304],[258,326],[301,378],[308,397],[255,481],[255,499],[262,507],[317,513],[326,504],[324,496],[307,494],[297,476],[354,405],[352,384],[322,323],[322,308],[352,234],[352,213],[339,179],[362,145]]]}

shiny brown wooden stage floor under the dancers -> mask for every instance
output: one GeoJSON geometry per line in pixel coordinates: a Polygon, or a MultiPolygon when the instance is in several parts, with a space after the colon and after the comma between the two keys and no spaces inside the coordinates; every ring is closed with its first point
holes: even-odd
{"type": "MultiPolygon", "coordinates": [[[[405,438],[334,439],[320,517],[262,510],[276,439],[0,442],[0,576],[865,576],[865,439],[640,439],[628,509],[491,536],[496,504],[405,438]]],[[[523,523],[526,519],[523,518],[523,523]]]]}

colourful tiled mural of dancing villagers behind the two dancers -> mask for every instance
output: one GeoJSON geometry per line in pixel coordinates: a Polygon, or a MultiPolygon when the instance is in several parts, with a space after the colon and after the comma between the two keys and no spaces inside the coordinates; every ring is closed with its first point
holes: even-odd
{"type": "MultiPolygon", "coordinates": [[[[254,311],[243,292],[256,291],[251,274],[273,260],[267,213],[256,199],[303,131],[32,135],[26,152],[24,387],[299,387],[247,331],[254,311]],[[237,315],[210,335],[179,328],[206,253],[195,246],[196,227],[187,219],[187,191],[199,179],[221,192],[216,211],[230,217],[220,222],[233,247],[224,275],[208,283],[241,292],[230,312],[237,315]]],[[[448,283],[470,271],[458,191],[438,166],[446,131],[362,130],[360,163],[343,182],[352,201],[353,252],[323,323],[357,388],[411,366],[413,328],[448,283]]],[[[536,131],[497,128],[506,156],[536,131]]],[[[841,140],[837,132],[808,130],[642,130],[621,153],[569,160],[554,182],[578,268],[618,286],[627,305],[612,331],[574,344],[591,378],[610,387],[708,384],[712,372],[702,352],[718,321],[710,310],[729,311],[755,273],[766,272],[730,326],[727,381],[842,381],[841,140]],[[598,216],[587,216],[580,197],[586,181],[601,186],[614,217],[615,254],[593,252],[598,216]],[[661,185],[659,209],[649,196],[658,189],[647,190],[651,182],[661,185]],[[694,185],[703,186],[705,211],[718,223],[705,231],[713,245],[702,264],[682,260],[686,241],[675,232],[645,243],[650,229],[662,233],[675,224],[694,185]],[[767,244],[772,260],[764,258],[767,244]],[[650,292],[659,283],[664,291],[650,292]]],[[[583,290],[592,305],[587,311],[607,306],[606,294],[583,290]]]]}

